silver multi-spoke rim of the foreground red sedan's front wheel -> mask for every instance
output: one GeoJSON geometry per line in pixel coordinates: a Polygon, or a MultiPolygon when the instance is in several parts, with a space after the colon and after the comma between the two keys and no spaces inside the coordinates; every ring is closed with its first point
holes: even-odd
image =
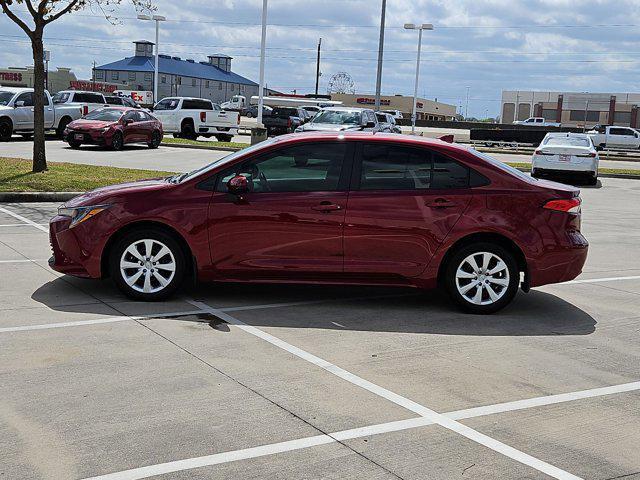
{"type": "Polygon", "coordinates": [[[120,257],[120,274],[133,290],[156,293],[171,283],[176,259],[169,247],[155,239],[133,242],[120,257]]]}

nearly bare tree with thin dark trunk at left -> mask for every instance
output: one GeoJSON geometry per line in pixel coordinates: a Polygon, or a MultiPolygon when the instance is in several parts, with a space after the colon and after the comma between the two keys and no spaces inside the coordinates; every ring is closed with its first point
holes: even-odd
{"type": "MultiPolygon", "coordinates": [[[[154,10],[152,0],[130,0],[138,10],[154,10]]],[[[122,0],[0,0],[3,13],[18,25],[31,40],[33,53],[33,171],[47,169],[44,143],[44,29],[63,15],[96,7],[109,21],[122,0]],[[26,6],[26,9],[24,8],[26,6]],[[29,18],[27,20],[26,18],[29,18]]]]}

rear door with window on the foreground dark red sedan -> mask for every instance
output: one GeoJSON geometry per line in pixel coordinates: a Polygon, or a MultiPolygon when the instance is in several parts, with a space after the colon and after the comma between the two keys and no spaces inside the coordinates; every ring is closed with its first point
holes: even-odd
{"type": "Polygon", "coordinates": [[[362,144],[345,218],[345,273],[419,276],[471,201],[469,176],[423,147],[362,144]]]}

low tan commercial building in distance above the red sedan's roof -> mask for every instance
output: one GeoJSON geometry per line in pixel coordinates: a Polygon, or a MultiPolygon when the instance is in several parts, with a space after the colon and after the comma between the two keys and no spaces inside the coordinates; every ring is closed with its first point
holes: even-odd
{"type": "MultiPolygon", "coordinates": [[[[338,100],[348,107],[373,107],[376,104],[375,95],[332,93],[331,100],[338,100]]],[[[413,97],[392,95],[380,97],[381,110],[399,110],[404,118],[411,118],[413,111],[413,97]]],[[[425,98],[418,98],[416,104],[418,120],[453,120],[456,116],[456,106],[440,103],[425,98]]]]}

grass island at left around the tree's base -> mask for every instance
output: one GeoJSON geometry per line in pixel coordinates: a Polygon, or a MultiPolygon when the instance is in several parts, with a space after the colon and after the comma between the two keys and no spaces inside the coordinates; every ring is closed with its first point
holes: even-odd
{"type": "Polygon", "coordinates": [[[114,183],[174,173],[54,162],[49,162],[46,172],[33,173],[31,165],[31,160],[0,157],[0,192],[86,192],[114,183]]]}

